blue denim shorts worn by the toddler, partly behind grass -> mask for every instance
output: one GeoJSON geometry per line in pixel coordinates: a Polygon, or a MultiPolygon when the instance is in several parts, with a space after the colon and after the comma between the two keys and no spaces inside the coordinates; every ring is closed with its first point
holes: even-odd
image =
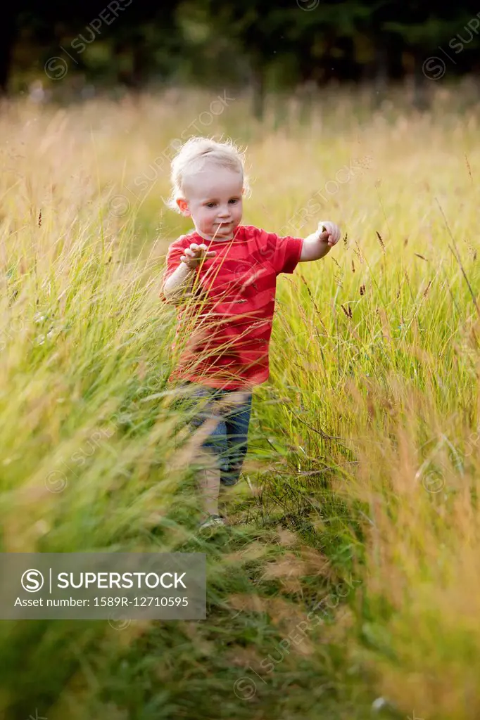
{"type": "Polygon", "coordinates": [[[215,454],[217,467],[220,469],[222,485],[236,485],[239,482],[241,466],[247,449],[250,413],[252,412],[252,392],[241,391],[243,399],[234,402],[229,408],[218,410],[218,400],[236,390],[221,390],[206,387],[190,381],[183,384],[190,386],[189,397],[207,398],[207,402],[190,420],[192,429],[200,428],[207,418],[218,417],[215,429],[203,442],[203,447],[215,454]]]}

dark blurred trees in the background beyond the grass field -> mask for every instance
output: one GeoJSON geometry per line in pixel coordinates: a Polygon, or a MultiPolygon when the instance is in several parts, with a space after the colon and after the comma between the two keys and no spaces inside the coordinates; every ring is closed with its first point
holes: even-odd
{"type": "Polygon", "coordinates": [[[480,73],[480,6],[401,0],[26,0],[0,23],[0,89],[81,78],[267,90],[480,73]]]}

